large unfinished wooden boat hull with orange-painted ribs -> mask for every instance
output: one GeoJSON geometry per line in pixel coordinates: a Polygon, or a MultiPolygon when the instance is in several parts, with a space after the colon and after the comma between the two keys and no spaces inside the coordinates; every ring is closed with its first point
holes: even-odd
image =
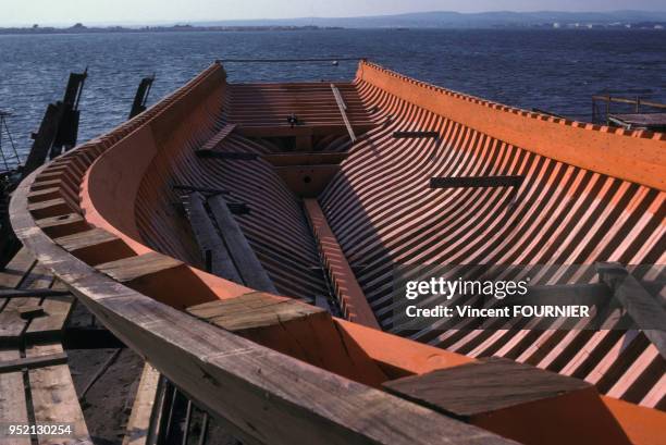
{"type": "Polygon", "coordinates": [[[10,212],[44,267],[246,443],[657,444],[666,342],[644,323],[664,308],[644,310],[642,285],[662,282],[590,270],[664,263],[664,190],[665,134],[367,61],[333,84],[234,84],[215,62],[35,171],[10,212]],[[614,293],[638,326],[407,329],[400,264],[521,264],[556,292],[614,293]]]}

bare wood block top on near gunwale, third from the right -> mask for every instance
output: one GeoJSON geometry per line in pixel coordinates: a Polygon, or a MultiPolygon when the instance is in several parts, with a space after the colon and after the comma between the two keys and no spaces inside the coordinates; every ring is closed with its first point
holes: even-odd
{"type": "Polygon", "coordinates": [[[135,257],[123,258],[98,264],[96,269],[111,276],[115,281],[126,283],[143,276],[153,275],[169,271],[170,269],[180,268],[182,265],[182,261],[156,251],[151,251],[135,257]]]}

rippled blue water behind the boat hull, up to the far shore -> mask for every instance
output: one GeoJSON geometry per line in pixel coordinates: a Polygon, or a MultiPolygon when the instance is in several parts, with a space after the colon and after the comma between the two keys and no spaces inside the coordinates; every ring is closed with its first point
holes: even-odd
{"type": "MultiPolygon", "coordinates": [[[[666,33],[390,30],[0,36],[0,109],[23,152],[70,71],[88,66],[79,140],[126,119],[143,76],[150,102],[215,59],[368,57],[404,74],[507,104],[589,120],[594,94],[666,101],[666,33]]],[[[354,62],[230,64],[231,82],[350,79],[354,62]]]]}

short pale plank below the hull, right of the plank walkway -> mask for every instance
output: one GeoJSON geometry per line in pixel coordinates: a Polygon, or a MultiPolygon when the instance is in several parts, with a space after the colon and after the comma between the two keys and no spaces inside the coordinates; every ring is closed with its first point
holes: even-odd
{"type": "Polygon", "coordinates": [[[123,445],[146,445],[159,381],[160,373],[158,370],[150,363],[146,363],[134,397],[132,413],[127,421],[127,434],[123,438],[123,445]]]}

